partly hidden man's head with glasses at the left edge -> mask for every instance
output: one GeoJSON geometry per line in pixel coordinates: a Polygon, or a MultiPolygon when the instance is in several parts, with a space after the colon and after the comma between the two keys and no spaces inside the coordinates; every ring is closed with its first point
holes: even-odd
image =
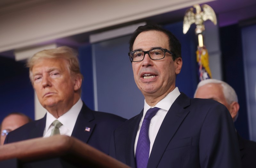
{"type": "Polygon", "coordinates": [[[5,137],[9,132],[31,121],[32,121],[31,118],[19,112],[13,112],[6,115],[0,125],[0,128],[1,128],[0,145],[4,144],[5,137]]]}

